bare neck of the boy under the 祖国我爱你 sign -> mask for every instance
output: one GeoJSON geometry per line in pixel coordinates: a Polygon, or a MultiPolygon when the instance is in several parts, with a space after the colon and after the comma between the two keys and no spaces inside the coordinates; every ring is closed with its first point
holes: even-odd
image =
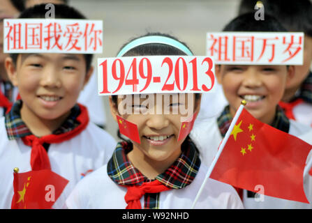
{"type": "Polygon", "coordinates": [[[27,125],[31,133],[34,134],[36,137],[43,137],[47,134],[52,134],[54,130],[57,130],[57,128],[59,128],[59,126],[64,123],[64,121],[70,114],[70,111],[56,119],[43,119],[36,116],[34,112],[30,112],[23,103],[20,114],[22,120],[27,125]]]}

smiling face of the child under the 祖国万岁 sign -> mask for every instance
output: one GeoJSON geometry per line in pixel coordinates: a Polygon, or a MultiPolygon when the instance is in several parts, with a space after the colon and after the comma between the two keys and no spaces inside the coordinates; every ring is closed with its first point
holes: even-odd
{"type": "Polygon", "coordinates": [[[294,67],[221,65],[216,66],[216,76],[223,86],[232,116],[240,102],[246,100],[248,112],[270,124],[285,86],[294,76],[294,67]]]}

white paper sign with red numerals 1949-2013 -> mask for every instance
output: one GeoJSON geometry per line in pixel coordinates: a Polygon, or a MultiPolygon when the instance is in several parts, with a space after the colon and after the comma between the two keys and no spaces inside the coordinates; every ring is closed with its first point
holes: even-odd
{"type": "Polygon", "coordinates": [[[205,93],[214,90],[207,56],[128,56],[98,59],[98,94],[205,93]]]}

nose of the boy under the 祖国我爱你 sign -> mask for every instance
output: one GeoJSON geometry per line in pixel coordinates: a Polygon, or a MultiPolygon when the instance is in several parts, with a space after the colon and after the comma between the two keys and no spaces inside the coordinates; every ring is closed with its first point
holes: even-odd
{"type": "Polygon", "coordinates": [[[61,79],[56,68],[47,67],[41,74],[40,85],[47,88],[60,88],[61,79]]]}

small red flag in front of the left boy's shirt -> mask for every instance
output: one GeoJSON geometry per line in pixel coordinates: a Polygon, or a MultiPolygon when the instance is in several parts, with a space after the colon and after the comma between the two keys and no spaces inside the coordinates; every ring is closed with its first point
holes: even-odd
{"type": "Polygon", "coordinates": [[[49,169],[14,173],[12,209],[50,209],[68,180],[49,169]]]}

